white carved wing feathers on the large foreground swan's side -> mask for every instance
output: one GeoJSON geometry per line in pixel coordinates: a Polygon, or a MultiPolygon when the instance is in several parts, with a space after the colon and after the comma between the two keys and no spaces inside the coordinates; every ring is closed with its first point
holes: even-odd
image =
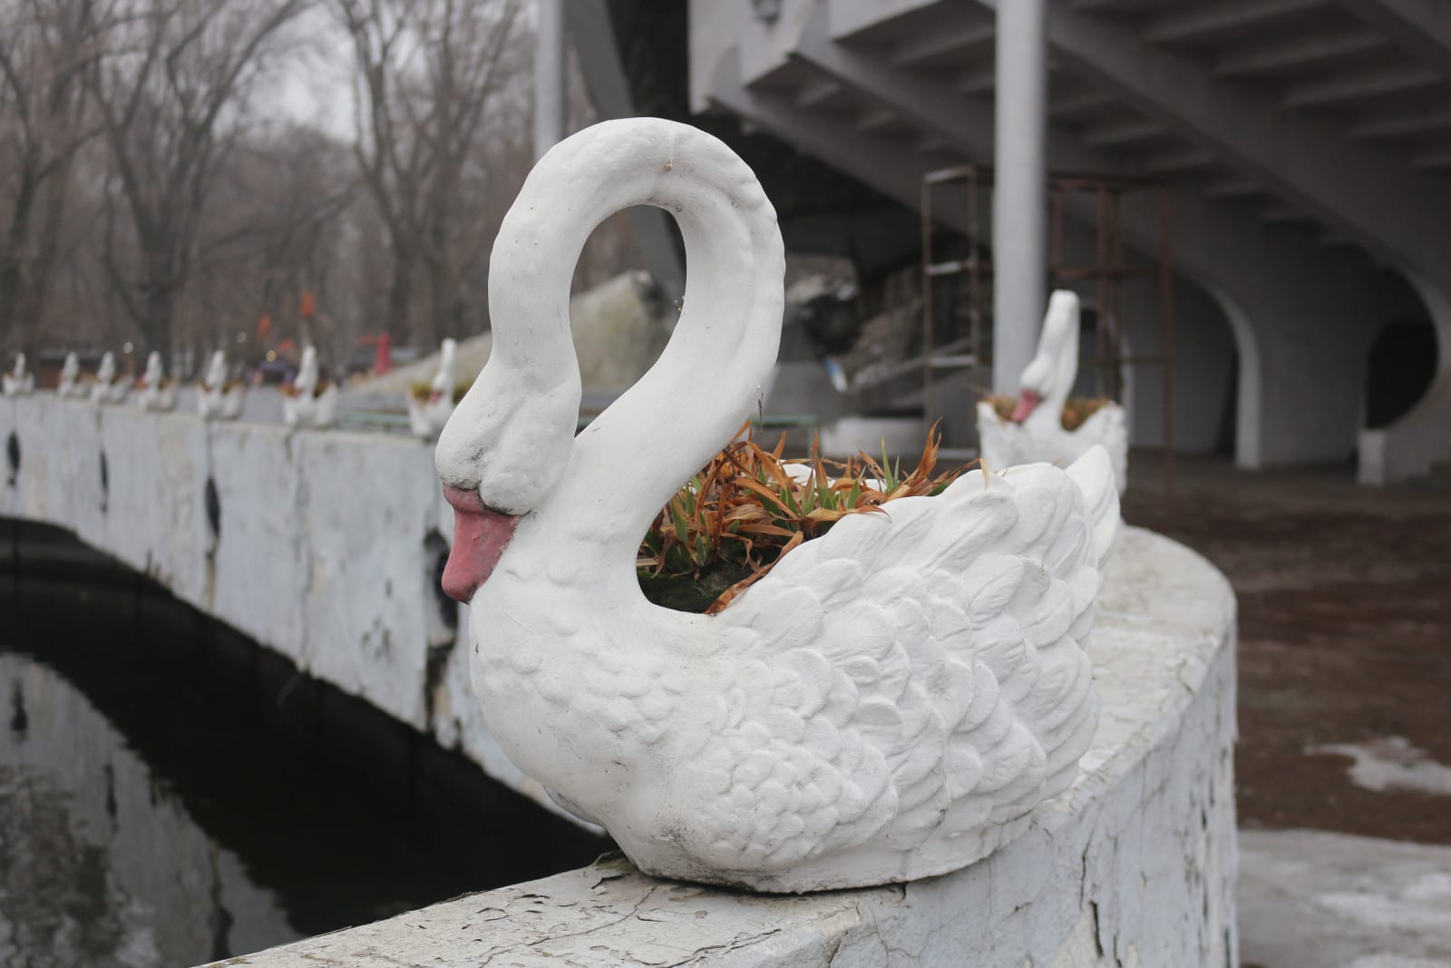
{"type": "Polygon", "coordinates": [[[678,787],[702,859],[904,852],[1064,789],[1097,723],[1085,647],[1117,521],[1094,448],[965,475],[784,557],[718,620],[708,739],[678,787]]]}

